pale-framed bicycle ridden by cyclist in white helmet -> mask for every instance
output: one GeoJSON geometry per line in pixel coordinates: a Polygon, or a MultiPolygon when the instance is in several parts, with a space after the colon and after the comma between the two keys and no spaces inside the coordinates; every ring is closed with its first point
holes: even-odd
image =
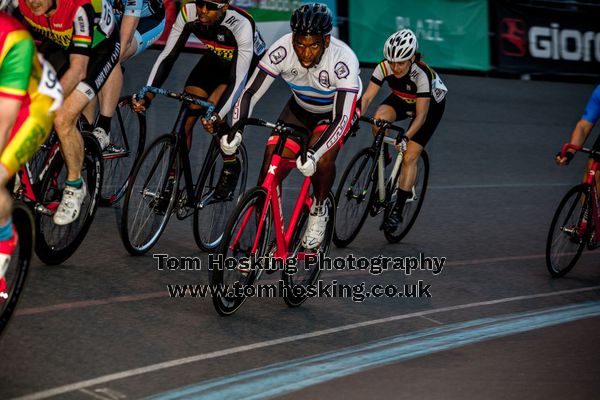
{"type": "MultiPolygon", "coordinates": [[[[402,170],[403,153],[398,152],[395,161],[389,163],[386,160],[384,144],[393,146],[396,139],[404,135],[404,129],[392,125],[391,122],[366,116],[360,120],[379,129],[371,146],[360,150],[350,160],[338,184],[333,236],[333,242],[338,247],[346,247],[356,238],[367,215],[375,217],[383,212],[385,221],[396,203],[396,187],[402,170]],[[397,138],[386,136],[388,129],[398,132],[397,138]]],[[[417,161],[412,195],[406,200],[402,212],[402,222],[393,231],[382,225],[384,235],[390,243],[402,240],[414,225],[425,199],[428,180],[429,157],[423,149],[417,161]]]]}

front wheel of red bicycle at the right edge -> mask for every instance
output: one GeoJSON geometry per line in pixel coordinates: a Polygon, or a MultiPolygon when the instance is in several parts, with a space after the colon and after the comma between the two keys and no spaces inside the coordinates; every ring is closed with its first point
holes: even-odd
{"type": "Polygon", "coordinates": [[[589,194],[588,185],[572,187],[554,213],[546,240],[546,267],[555,278],[573,269],[588,242],[593,225],[589,194]]]}

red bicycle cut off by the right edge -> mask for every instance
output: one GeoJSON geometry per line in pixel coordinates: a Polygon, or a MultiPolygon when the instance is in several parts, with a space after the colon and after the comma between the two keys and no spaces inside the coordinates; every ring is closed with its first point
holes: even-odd
{"type": "Polygon", "coordinates": [[[550,274],[565,276],[577,263],[583,250],[600,246],[600,198],[595,176],[600,169],[600,151],[566,144],[568,149],[590,155],[592,165],[586,182],[572,187],[563,197],[548,231],[546,240],[546,267],[550,274]]]}

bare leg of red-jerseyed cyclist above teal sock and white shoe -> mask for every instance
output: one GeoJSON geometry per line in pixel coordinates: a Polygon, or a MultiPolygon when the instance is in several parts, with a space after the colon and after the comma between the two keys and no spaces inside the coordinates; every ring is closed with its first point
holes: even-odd
{"type": "Polygon", "coordinates": [[[83,138],[77,129],[77,118],[89,103],[86,95],[74,90],[56,112],[54,127],[60,141],[60,150],[67,165],[67,179],[76,181],[83,165],[83,138]]]}

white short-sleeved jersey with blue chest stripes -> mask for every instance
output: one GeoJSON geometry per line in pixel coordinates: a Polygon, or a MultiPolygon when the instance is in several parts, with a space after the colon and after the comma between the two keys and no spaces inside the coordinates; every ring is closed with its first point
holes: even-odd
{"type": "Polygon", "coordinates": [[[306,69],[294,52],[292,34],[276,41],[258,67],[272,77],[281,76],[302,108],[315,113],[333,110],[338,91],[362,93],[358,58],[341,40],[331,37],[319,63],[306,69]]]}

